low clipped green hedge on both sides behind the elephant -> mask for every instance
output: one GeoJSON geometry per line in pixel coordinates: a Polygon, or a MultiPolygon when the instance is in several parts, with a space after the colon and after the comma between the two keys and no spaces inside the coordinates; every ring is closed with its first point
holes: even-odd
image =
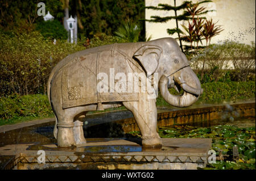
{"type": "MultiPolygon", "coordinates": [[[[203,83],[203,95],[199,101],[236,100],[255,98],[255,82],[210,82],[203,83]]],[[[174,89],[170,89],[176,94],[174,89]]],[[[158,106],[169,105],[159,94],[156,100],[158,106]]],[[[17,117],[53,116],[47,95],[12,95],[0,97],[0,121],[17,117]]]]}

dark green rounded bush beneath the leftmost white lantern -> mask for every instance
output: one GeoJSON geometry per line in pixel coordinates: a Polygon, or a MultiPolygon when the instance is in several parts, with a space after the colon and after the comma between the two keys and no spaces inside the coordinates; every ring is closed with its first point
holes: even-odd
{"type": "Polygon", "coordinates": [[[36,30],[38,30],[43,37],[51,39],[68,39],[68,32],[65,30],[63,24],[58,20],[42,21],[36,24],[36,30]]]}

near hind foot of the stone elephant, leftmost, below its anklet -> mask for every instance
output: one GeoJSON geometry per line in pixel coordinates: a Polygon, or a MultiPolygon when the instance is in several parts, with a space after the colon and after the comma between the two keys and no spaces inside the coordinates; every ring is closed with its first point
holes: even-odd
{"type": "Polygon", "coordinates": [[[73,123],[58,123],[57,144],[60,147],[73,147],[76,142],[73,136],[73,123]]]}

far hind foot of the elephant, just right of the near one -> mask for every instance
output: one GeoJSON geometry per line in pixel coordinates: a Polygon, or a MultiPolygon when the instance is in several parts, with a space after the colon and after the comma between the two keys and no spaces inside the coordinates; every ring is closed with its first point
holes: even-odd
{"type": "Polygon", "coordinates": [[[82,121],[75,121],[73,127],[74,139],[77,147],[85,146],[86,140],[84,138],[84,130],[82,129],[82,121]]]}

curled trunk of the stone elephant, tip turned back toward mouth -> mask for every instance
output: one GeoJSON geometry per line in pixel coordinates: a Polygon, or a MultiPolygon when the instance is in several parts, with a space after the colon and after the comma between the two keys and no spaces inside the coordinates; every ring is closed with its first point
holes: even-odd
{"type": "Polygon", "coordinates": [[[177,71],[177,73],[174,74],[174,81],[184,90],[182,95],[170,94],[167,86],[167,77],[162,76],[159,82],[160,93],[162,94],[164,100],[166,100],[172,106],[191,106],[191,104],[195,103],[199,99],[200,94],[203,93],[199,79],[190,67],[177,71]]]}

